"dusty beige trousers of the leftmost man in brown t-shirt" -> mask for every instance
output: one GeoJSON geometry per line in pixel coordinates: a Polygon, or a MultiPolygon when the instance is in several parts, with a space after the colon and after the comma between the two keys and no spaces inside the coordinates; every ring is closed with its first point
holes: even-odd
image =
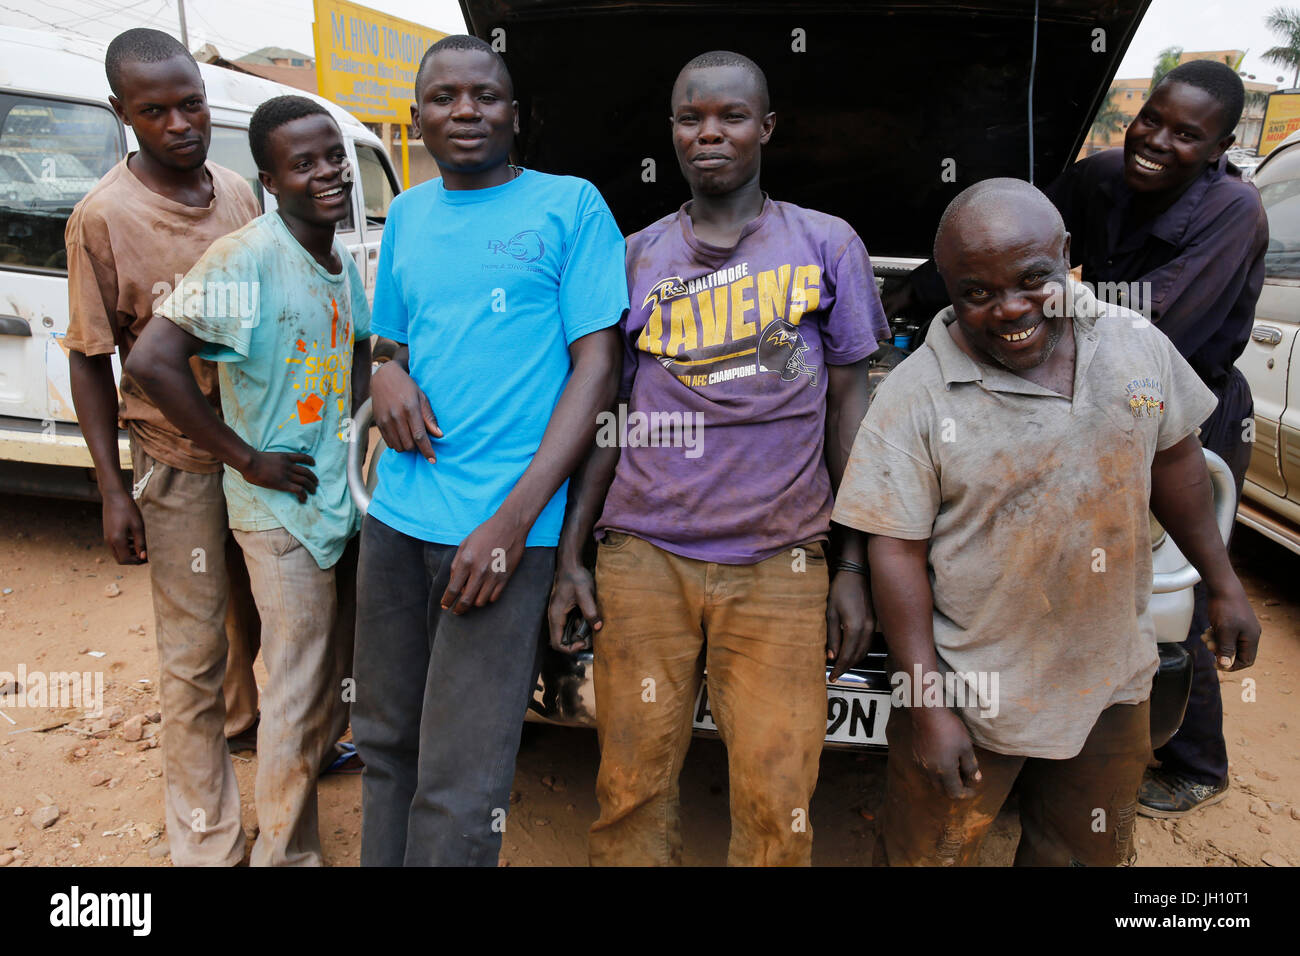
{"type": "Polygon", "coordinates": [[[226,497],[221,472],[157,462],[131,437],[135,502],[153,592],[166,832],[177,866],[233,866],[243,857],[239,784],[226,749],[226,497]]]}

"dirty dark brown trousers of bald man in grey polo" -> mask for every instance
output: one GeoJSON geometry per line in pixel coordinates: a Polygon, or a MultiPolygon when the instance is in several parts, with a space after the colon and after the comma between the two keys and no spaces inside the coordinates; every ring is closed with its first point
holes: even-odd
{"type": "Polygon", "coordinates": [[[1017,866],[1119,866],[1135,858],[1138,788],[1150,757],[1150,706],[1101,711],[1083,749],[1069,760],[994,753],[975,747],[980,782],[953,800],[913,758],[911,717],[894,708],[876,866],[974,866],[989,826],[1011,792],[1020,799],[1017,866]],[[1100,812],[1100,813],[1098,813],[1100,812]]]}

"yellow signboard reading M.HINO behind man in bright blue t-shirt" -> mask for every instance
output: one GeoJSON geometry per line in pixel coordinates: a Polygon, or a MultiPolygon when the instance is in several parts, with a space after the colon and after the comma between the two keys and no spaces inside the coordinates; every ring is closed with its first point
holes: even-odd
{"type": "Polygon", "coordinates": [[[344,0],[315,0],[316,88],[361,122],[411,122],[424,51],[447,34],[344,0]]]}

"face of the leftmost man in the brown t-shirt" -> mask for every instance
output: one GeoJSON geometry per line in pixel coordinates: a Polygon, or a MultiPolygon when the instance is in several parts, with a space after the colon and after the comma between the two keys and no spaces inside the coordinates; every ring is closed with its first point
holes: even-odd
{"type": "Polygon", "coordinates": [[[121,98],[108,101],[159,165],[188,170],[208,159],[212,114],[199,68],[187,56],[159,62],[122,64],[121,98]]]}

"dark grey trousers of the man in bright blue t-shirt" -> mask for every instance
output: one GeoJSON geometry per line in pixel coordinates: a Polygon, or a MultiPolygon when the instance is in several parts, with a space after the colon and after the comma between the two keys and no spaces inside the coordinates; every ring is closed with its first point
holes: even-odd
{"type": "Polygon", "coordinates": [[[456,550],[361,524],[363,866],[495,866],[500,852],[555,549],[525,548],[500,597],[459,615],[441,605],[456,550]]]}

